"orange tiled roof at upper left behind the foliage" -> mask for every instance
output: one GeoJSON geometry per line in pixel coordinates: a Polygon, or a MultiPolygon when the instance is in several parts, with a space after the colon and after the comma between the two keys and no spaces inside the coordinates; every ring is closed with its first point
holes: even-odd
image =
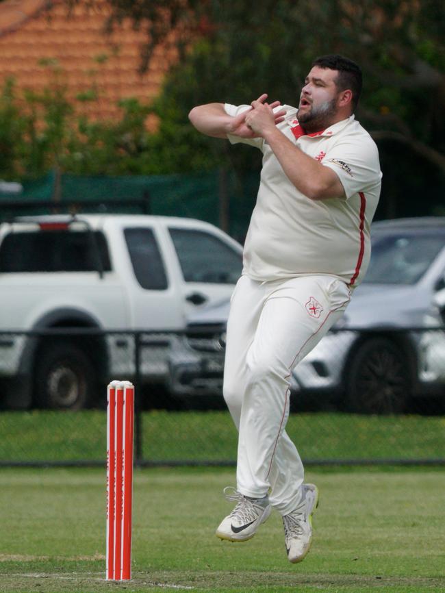
{"type": "Polygon", "coordinates": [[[94,9],[81,2],[71,14],[60,0],[1,1],[0,86],[14,77],[18,88],[41,91],[53,80],[51,67],[44,65],[51,62],[60,68],[60,79],[73,101],[95,82],[99,101],[77,105],[92,118],[116,116],[118,99],[155,97],[175,60],[175,50],[171,45],[157,48],[147,72],[140,74],[144,33],[134,31],[127,21],[106,34],[108,10],[105,1],[94,9]]]}

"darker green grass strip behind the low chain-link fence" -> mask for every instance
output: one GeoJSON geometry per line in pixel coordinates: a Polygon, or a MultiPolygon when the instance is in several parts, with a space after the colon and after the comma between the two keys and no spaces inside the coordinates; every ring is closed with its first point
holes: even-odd
{"type": "MultiPolygon", "coordinates": [[[[286,427],[303,459],[445,459],[444,416],[291,414],[286,427]]],[[[0,413],[0,462],[105,460],[105,412],[0,413]]],[[[142,415],[143,458],[233,461],[238,434],[228,412],[142,415]]]]}

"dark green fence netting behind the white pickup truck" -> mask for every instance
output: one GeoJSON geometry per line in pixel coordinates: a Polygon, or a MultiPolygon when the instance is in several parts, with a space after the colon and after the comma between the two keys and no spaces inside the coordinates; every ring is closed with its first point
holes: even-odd
{"type": "MultiPolygon", "coordinates": [[[[3,218],[15,214],[40,214],[41,201],[55,205],[103,201],[146,200],[149,212],[162,216],[199,218],[243,240],[255,204],[258,175],[233,171],[212,171],[199,175],[129,175],[119,177],[55,175],[54,172],[24,181],[23,191],[0,192],[3,218]],[[20,211],[18,202],[29,204],[20,211]]],[[[130,210],[131,212],[131,207],[130,210]]]]}

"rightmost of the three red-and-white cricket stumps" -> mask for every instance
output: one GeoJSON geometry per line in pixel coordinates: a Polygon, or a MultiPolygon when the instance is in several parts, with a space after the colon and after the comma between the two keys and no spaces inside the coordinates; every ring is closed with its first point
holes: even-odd
{"type": "Polygon", "coordinates": [[[122,566],[120,578],[131,579],[131,510],[133,499],[134,389],[124,392],[122,566]]]}

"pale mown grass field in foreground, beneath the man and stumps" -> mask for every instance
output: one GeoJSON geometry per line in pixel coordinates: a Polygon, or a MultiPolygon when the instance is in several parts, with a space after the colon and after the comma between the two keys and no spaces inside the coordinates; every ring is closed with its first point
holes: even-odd
{"type": "Polygon", "coordinates": [[[445,472],[309,470],[314,544],[285,556],[277,514],[251,542],[220,542],[233,470],[136,470],[133,580],[107,583],[105,471],[0,470],[0,592],[445,592],[445,472]]]}

